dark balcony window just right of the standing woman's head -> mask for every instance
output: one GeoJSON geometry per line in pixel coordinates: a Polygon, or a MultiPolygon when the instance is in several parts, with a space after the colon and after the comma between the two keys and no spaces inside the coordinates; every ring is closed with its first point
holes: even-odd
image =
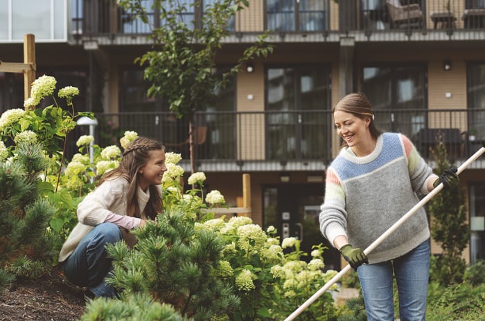
{"type": "Polygon", "coordinates": [[[414,138],[427,126],[425,66],[364,66],[362,92],[367,95],[381,131],[414,138]]]}

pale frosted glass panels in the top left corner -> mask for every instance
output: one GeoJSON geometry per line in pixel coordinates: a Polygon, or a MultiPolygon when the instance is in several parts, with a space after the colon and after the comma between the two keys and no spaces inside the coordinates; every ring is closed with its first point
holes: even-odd
{"type": "Polygon", "coordinates": [[[67,41],[66,1],[0,0],[0,41],[22,42],[34,33],[35,40],[67,41]]]}

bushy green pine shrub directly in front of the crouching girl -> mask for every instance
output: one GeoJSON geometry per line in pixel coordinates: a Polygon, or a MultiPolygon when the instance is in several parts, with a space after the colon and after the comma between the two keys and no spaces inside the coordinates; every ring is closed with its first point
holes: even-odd
{"type": "Polygon", "coordinates": [[[239,300],[231,285],[214,273],[224,248],[215,232],[196,230],[182,213],[165,212],[134,233],[139,238],[134,249],[124,243],[108,247],[115,259],[109,282],[127,297],[149,293],[194,320],[236,309],[239,300]]]}

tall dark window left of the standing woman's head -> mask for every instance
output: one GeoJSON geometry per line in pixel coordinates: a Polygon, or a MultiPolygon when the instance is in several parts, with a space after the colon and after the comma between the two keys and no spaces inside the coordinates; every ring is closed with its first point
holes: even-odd
{"type": "Polygon", "coordinates": [[[271,67],[266,71],[266,157],[322,159],[331,128],[330,68],[271,67]]]}

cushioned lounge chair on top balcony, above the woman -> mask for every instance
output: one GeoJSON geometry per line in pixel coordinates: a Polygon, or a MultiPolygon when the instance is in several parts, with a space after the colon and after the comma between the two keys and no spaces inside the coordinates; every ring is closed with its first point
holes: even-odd
{"type": "Polygon", "coordinates": [[[396,28],[422,28],[423,11],[416,3],[401,6],[399,0],[387,0],[391,23],[396,28]]]}

